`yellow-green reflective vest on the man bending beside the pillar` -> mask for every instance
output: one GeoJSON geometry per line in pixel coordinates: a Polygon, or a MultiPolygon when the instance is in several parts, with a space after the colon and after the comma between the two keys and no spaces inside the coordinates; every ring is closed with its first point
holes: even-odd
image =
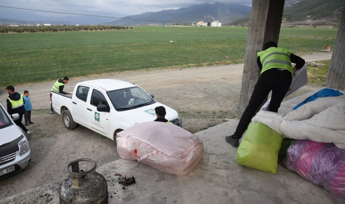
{"type": "Polygon", "coordinates": [[[294,75],[291,60],[291,51],[285,48],[270,47],[264,51],[258,52],[257,56],[260,56],[262,64],[262,74],[264,71],[272,68],[287,69],[291,72],[291,76],[294,75]]]}

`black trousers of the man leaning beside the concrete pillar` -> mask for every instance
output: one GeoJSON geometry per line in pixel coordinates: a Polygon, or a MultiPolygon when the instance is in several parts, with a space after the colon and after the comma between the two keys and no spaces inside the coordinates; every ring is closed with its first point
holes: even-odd
{"type": "Polygon", "coordinates": [[[271,101],[268,111],[278,112],[280,103],[289,90],[292,81],[291,72],[288,70],[269,69],[263,72],[254,87],[252,96],[250,97],[248,106],[242,114],[234,133],[234,138],[240,139],[246,131],[252,117],[259,109],[269,92],[272,90],[271,101]]]}

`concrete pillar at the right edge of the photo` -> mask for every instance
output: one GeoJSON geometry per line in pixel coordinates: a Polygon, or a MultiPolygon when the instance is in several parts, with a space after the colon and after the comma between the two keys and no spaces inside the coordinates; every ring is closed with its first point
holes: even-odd
{"type": "Polygon", "coordinates": [[[331,64],[329,64],[326,87],[335,89],[345,88],[345,8],[340,21],[331,64]]]}

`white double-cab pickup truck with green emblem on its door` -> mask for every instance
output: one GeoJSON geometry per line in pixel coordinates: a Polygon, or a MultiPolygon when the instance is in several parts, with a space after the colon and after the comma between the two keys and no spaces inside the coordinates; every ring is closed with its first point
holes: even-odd
{"type": "Polygon", "coordinates": [[[182,127],[177,112],[158,103],[139,86],[116,79],[79,82],[70,95],[52,91],[54,110],[67,129],[77,124],[116,140],[116,134],[137,123],[156,119],[155,107],[164,106],[165,118],[182,127]]]}

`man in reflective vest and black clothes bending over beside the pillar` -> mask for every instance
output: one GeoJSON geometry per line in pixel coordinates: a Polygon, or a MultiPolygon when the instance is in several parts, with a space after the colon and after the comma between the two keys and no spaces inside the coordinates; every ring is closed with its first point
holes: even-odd
{"type": "Polygon", "coordinates": [[[277,47],[273,41],[267,42],[264,50],[258,52],[256,61],[259,69],[261,69],[260,77],[235,133],[225,137],[226,142],[234,147],[238,146],[239,139],[271,90],[272,97],[268,111],[278,112],[295,72],[305,64],[304,59],[292,54],[288,49],[277,47]],[[296,66],[292,67],[291,62],[295,63],[296,66]]]}

